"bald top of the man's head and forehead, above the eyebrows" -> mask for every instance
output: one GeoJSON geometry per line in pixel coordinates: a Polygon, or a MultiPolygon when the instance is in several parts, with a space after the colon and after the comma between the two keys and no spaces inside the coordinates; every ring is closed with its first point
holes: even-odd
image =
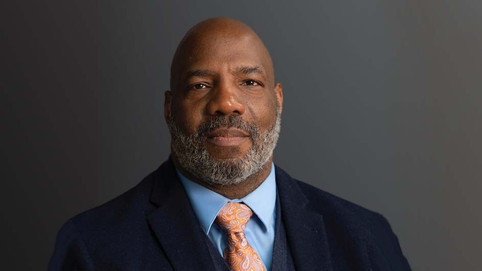
{"type": "Polygon", "coordinates": [[[208,65],[257,67],[274,86],[274,69],[263,41],[243,22],[219,17],[203,20],[192,27],[180,41],[171,64],[171,91],[182,87],[193,67],[208,65]],[[246,63],[239,56],[245,55],[246,63]],[[238,56],[238,57],[236,57],[238,56]],[[247,66],[247,62],[255,66],[247,66]]]}

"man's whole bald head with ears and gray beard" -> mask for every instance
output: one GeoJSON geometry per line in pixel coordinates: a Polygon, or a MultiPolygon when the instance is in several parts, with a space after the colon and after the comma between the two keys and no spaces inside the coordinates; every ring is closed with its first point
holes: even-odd
{"type": "Polygon", "coordinates": [[[195,177],[232,185],[271,161],[283,94],[256,33],[229,18],[204,20],[179,43],[164,115],[180,166],[195,177]]]}

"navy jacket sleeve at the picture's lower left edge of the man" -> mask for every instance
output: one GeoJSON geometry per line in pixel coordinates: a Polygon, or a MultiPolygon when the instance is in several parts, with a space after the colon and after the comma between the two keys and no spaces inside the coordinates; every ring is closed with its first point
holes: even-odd
{"type": "Polygon", "coordinates": [[[68,220],[57,234],[48,271],[94,271],[82,237],[75,224],[68,220]]]}

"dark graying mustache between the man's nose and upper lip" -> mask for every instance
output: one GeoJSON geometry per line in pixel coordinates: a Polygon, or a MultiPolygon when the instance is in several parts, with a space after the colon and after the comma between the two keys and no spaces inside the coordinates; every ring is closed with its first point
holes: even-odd
{"type": "Polygon", "coordinates": [[[212,117],[202,122],[197,129],[197,138],[202,140],[206,137],[206,133],[212,132],[218,128],[237,128],[249,134],[252,140],[259,138],[259,129],[254,124],[249,124],[238,115],[212,117]]]}

